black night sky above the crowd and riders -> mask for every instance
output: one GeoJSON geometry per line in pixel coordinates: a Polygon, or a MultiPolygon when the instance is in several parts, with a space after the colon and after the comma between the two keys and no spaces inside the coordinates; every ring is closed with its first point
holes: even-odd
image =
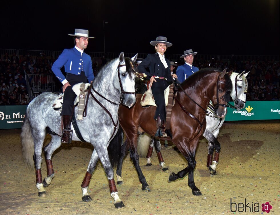
{"type": "Polygon", "coordinates": [[[153,53],[157,36],[167,53],[279,55],[279,0],[4,1],[1,49],[62,51],[75,28],[88,29],[86,51],[153,53]],[[153,2],[153,3],[151,3],[153,2]]]}

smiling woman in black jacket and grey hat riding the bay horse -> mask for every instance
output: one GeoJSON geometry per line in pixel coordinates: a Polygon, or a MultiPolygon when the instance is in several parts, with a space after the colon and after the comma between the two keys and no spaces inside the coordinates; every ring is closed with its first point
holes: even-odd
{"type": "MultiPolygon", "coordinates": [[[[137,67],[141,73],[146,73],[150,78],[150,86],[152,89],[153,97],[157,109],[154,119],[157,120],[157,130],[159,126],[163,126],[163,122],[166,118],[165,112],[165,100],[163,92],[168,86],[167,82],[172,81],[172,77],[176,77],[176,74],[171,76],[170,74],[170,61],[164,56],[167,47],[172,46],[172,43],[167,42],[166,37],[157,37],[156,40],[151,41],[150,44],[155,47],[155,54],[148,54],[148,56],[137,67]],[[149,71],[147,69],[149,68],[149,71]]],[[[162,136],[167,134],[161,129],[162,136]]]]}

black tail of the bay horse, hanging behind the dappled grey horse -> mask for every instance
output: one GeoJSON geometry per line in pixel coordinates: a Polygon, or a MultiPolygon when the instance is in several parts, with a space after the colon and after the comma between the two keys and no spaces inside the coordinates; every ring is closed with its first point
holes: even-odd
{"type": "Polygon", "coordinates": [[[113,140],[111,140],[107,150],[112,167],[118,164],[121,155],[121,146],[123,145],[123,129],[121,126],[113,140]]]}

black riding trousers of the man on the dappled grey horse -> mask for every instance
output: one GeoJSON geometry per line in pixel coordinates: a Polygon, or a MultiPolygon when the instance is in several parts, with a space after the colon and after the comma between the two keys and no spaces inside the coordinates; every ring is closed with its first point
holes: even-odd
{"type": "Polygon", "coordinates": [[[74,101],[77,97],[76,93],[74,93],[72,87],[73,85],[77,83],[88,83],[87,77],[85,76],[85,72],[81,72],[81,75],[74,75],[71,73],[67,73],[66,75],[67,81],[71,84],[71,86],[67,87],[64,91],[63,96],[63,104],[62,104],[62,110],[60,113],[60,116],[62,115],[72,115],[73,107],[74,107],[74,101]]]}

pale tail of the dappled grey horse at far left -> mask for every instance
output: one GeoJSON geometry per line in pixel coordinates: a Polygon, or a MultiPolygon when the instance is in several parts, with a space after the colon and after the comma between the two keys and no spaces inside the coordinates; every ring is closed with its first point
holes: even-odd
{"type": "Polygon", "coordinates": [[[27,117],[23,119],[21,126],[21,146],[24,162],[27,164],[27,167],[33,168],[34,141],[31,136],[31,126],[27,117]]]}

